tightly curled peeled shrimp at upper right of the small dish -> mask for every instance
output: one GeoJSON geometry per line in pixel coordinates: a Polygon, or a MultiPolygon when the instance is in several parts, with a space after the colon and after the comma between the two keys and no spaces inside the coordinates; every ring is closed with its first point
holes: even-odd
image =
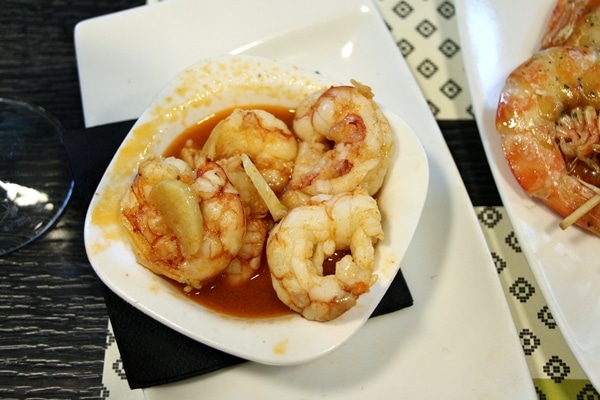
{"type": "Polygon", "coordinates": [[[392,130],[371,88],[352,83],[315,92],[298,105],[300,145],[290,190],[314,196],[364,187],[373,195],[381,188],[393,156],[392,130]]]}

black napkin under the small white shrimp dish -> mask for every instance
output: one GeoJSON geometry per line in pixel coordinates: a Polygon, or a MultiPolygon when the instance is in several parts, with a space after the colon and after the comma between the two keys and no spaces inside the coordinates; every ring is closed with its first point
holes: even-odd
{"type": "MultiPolygon", "coordinates": [[[[124,121],[66,132],[65,145],[76,194],[84,210],[133,123],[124,121]]],[[[104,284],[102,286],[127,381],[132,389],[175,382],[246,361],[181,335],[138,311],[104,284]]],[[[397,311],[412,304],[413,298],[402,272],[399,272],[371,316],[397,311]]]]}

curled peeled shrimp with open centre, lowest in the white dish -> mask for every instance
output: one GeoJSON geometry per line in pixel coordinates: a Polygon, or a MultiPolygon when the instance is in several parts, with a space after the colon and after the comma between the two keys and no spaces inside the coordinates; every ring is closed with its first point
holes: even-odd
{"type": "Polygon", "coordinates": [[[277,296],[306,319],[337,318],[376,281],[374,245],[382,237],[377,202],[366,190],[311,198],[290,210],[267,239],[277,296]],[[335,274],[323,275],[323,262],[348,249],[335,274]]]}

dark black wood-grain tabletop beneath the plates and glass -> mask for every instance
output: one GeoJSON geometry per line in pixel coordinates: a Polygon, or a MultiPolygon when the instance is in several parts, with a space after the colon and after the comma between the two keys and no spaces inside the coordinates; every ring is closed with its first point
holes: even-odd
{"type": "MultiPolygon", "coordinates": [[[[41,106],[66,129],[82,128],[74,27],[143,4],[3,0],[0,97],[41,106]]],[[[481,173],[488,167],[474,122],[439,123],[467,188],[478,187],[469,191],[474,204],[499,205],[495,189],[480,182],[491,179],[481,173]],[[472,182],[470,170],[478,171],[472,182]]],[[[84,213],[75,193],[47,234],[0,256],[0,398],[101,398],[108,316],[83,250],[84,213]]]]}

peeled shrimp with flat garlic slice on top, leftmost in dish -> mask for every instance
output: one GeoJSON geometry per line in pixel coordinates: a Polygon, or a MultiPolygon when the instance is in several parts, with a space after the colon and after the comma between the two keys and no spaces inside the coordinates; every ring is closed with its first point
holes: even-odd
{"type": "Polygon", "coordinates": [[[174,157],[142,162],[121,212],[138,262],[195,288],[227,267],[246,229],[237,190],[208,160],[195,170],[174,157]]]}

